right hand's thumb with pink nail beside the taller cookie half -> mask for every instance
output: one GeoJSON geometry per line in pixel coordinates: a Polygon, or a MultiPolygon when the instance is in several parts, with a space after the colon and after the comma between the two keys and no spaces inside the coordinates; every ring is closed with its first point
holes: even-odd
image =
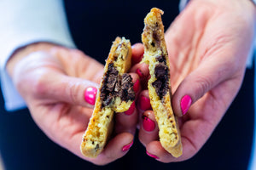
{"type": "Polygon", "coordinates": [[[183,116],[189,107],[198,99],[216,87],[219,83],[231,78],[234,69],[226,59],[208,58],[189,73],[177,87],[172,96],[173,111],[177,116],[183,116]]]}

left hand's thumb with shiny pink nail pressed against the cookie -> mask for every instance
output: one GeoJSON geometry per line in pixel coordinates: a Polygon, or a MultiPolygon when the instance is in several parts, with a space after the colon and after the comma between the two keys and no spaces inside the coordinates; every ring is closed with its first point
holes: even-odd
{"type": "Polygon", "coordinates": [[[95,82],[54,73],[38,80],[34,94],[49,103],[66,102],[92,108],[98,87],[95,82]]]}

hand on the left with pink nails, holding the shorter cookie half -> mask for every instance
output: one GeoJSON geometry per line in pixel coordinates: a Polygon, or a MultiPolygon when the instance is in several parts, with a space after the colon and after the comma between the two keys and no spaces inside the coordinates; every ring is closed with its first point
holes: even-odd
{"type": "MultiPolygon", "coordinates": [[[[103,74],[103,65],[96,60],[77,49],[41,42],[21,49],[9,60],[7,69],[33,120],[49,139],[98,165],[127,153],[137,124],[134,107],[129,114],[117,114],[115,135],[100,156],[91,159],[80,152],[103,74]],[[92,97],[84,94],[88,89],[95,89],[92,97]]],[[[134,82],[138,79],[136,74],[131,77],[134,82]]]]}

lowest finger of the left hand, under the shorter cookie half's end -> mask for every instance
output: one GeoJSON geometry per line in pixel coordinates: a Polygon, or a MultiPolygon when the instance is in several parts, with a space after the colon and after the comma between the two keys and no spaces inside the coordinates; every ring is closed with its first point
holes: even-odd
{"type": "Polygon", "coordinates": [[[119,133],[108,142],[102,154],[97,157],[96,163],[98,165],[105,165],[125,156],[132,144],[133,135],[131,133],[119,133]]]}

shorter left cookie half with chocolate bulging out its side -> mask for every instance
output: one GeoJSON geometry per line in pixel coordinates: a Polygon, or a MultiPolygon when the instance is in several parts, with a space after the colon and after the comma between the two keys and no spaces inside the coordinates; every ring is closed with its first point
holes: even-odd
{"type": "Polygon", "coordinates": [[[131,67],[131,42],[117,37],[108,54],[104,75],[96,97],[96,105],[84,133],[81,152],[87,157],[98,156],[113,131],[115,112],[127,111],[135,99],[131,67]]]}

